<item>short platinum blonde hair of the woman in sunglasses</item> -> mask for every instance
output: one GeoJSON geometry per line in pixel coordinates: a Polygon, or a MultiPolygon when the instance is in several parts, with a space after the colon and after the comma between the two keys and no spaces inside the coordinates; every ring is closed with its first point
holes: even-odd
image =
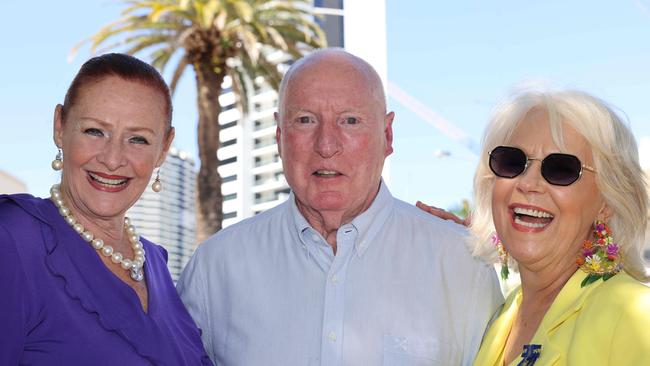
{"type": "Polygon", "coordinates": [[[488,166],[489,152],[507,144],[519,122],[531,110],[548,113],[555,144],[564,149],[562,125],[567,123],[591,148],[596,184],[613,214],[609,221],[621,247],[624,269],[640,281],[648,280],[643,258],[648,192],[639,164],[636,141],[628,126],[602,100],[581,91],[523,91],[497,106],[485,129],[481,158],[474,176],[471,231],[474,255],[496,261],[491,237],[492,188],[495,175],[488,166]]]}

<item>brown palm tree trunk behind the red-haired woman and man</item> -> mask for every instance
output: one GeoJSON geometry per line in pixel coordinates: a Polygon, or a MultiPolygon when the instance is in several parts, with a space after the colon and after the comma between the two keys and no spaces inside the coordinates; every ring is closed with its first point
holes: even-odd
{"type": "MultiPolygon", "coordinates": [[[[196,75],[197,104],[199,110],[198,145],[201,160],[196,180],[197,194],[197,242],[201,243],[221,229],[223,220],[223,196],[219,175],[219,94],[224,73],[215,71],[211,60],[196,60],[193,63],[196,75]]],[[[224,70],[224,68],[219,68],[224,70]]]]}

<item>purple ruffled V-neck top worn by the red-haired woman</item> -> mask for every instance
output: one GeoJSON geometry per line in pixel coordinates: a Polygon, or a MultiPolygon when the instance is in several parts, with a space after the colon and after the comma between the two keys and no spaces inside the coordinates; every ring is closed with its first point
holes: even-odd
{"type": "Polygon", "coordinates": [[[148,313],[50,200],[0,195],[0,365],[212,365],[165,250],[142,243],[148,313]]]}

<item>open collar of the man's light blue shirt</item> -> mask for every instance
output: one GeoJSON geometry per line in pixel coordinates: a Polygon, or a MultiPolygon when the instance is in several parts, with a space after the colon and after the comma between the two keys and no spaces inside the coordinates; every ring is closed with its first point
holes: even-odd
{"type": "MultiPolygon", "coordinates": [[[[365,253],[374,237],[377,235],[379,230],[381,230],[384,222],[388,219],[392,208],[393,196],[382,179],[379,183],[379,192],[377,192],[377,196],[375,196],[370,207],[359,216],[355,217],[351,223],[341,226],[352,225],[357,230],[358,236],[355,247],[359,256],[363,256],[363,253],[365,253]]],[[[293,221],[302,246],[309,251],[309,245],[307,245],[303,235],[308,231],[315,232],[315,230],[311,225],[309,225],[309,222],[307,222],[307,219],[305,219],[300,210],[298,210],[296,197],[293,194],[293,191],[289,196],[289,215],[291,216],[291,220],[293,221]]]]}

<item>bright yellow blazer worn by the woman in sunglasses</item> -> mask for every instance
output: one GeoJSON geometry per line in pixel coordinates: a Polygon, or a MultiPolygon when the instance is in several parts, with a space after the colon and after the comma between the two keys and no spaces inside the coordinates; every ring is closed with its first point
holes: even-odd
{"type": "MultiPolygon", "coordinates": [[[[535,366],[650,365],[650,288],[625,272],[581,288],[585,276],[576,271],[542,319],[530,342],[542,346],[535,366]]],[[[508,296],[485,334],[475,366],[503,366],[520,304],[521,287],[508,296]]]]}

